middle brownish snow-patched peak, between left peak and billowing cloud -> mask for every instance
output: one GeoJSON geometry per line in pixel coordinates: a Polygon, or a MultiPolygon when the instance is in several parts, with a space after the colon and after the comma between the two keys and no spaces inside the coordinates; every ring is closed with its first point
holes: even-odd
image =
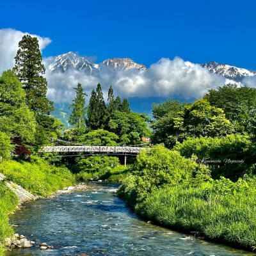
{"type": "Polygon", "coordinates": [[[129,70],[131,68],[137,68],[138,70],[146,70],[147,68],[143,64],[138,64],[129,58],[110,58],[102,62],[103,65],[113,67],[117,69],[129,70]]]}

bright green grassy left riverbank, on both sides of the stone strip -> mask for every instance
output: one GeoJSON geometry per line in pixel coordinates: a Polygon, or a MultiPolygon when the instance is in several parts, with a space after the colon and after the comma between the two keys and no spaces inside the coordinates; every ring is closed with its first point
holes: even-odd
{"type": "MultiPolygon", "coordinates": [[[[12,180],[33,195],[49,196],[58,189],[75,183],[74,175],[65,167],[53,166],[39,157],[29,161],[6,160],[0,163],[0,173],[6,180],[12,180]]],[[[17,196],[0,182],[0,255],[4,253],[4,239],[13,233],[8,222],[8,214],[18,205],[17,196]]]]}

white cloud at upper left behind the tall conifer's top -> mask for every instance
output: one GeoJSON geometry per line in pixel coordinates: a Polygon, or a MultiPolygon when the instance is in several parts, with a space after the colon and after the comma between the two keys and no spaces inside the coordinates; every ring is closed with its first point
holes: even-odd
{"type": "MultiPolygon", "coordinates": [[[[0,29],[0,74],[8,69],[12,68],[14,65],[14,57],[18,50],[19,41],[24,35],[28,35],[29,33],[23,33],[21,31],[17,31],[15,29],[0,29]]],[[[31,34],[29,34],[31,35],[31,34]]],[[[44,49],[47,45],[51,43],[51,39],[48,37],[41,37],[38,35],[40,50],[44,49]]]]}

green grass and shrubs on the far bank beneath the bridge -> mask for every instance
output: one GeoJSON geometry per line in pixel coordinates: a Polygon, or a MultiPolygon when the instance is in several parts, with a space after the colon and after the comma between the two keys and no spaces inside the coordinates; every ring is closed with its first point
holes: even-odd
{"type": "Polygon", "coordinates": [[[107,180],[109,183],[122,183],[127,175],[129,175],[129,168],[124,165],[118,165],[113,168],[102,168],[99,172],[79,172],[76,173],[76,180],[89,180],[90,178],[98,178],[107,180]]]}

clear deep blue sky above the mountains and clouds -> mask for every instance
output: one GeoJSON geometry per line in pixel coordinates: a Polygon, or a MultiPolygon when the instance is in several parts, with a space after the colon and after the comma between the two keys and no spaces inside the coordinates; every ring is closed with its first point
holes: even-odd
{"type": "Polygon", "coordinates": [[[0,28],[47,36],[44,56],[162,57],[217,61],[256,70],[256,1],[12,1],[0,28]]]}

